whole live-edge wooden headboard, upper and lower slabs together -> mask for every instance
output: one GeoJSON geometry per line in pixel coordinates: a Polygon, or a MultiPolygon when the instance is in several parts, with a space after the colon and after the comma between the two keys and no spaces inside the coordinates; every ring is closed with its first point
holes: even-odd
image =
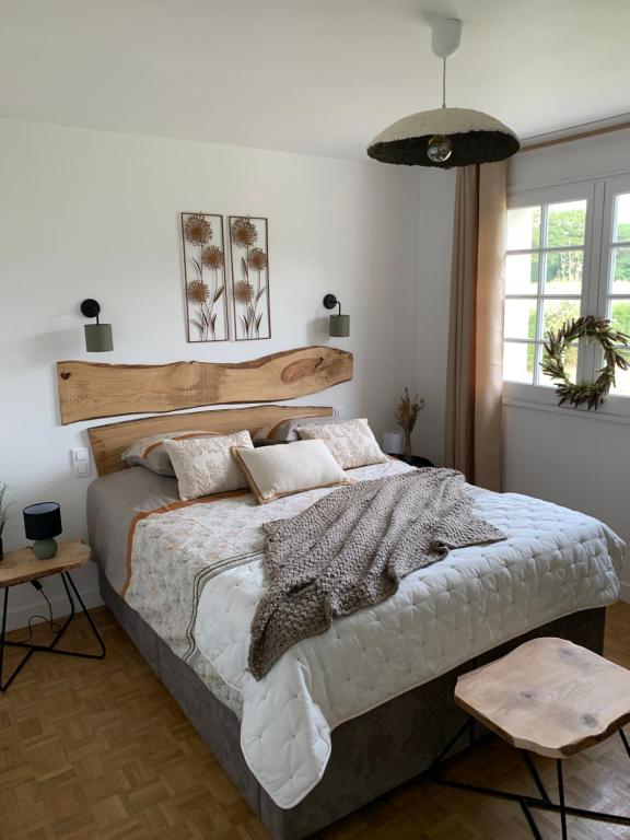
{"type": "MultiPolygon", "coordinates": [[[[231,402],[271,402],[325,390],[352,378],[352,353],[334,347],[302,347],[248,362],[100,364],[57,362],[61,422],[120,415],[180,411],[231,402]]],[[[330,417],[325,406],[253,406],[167,413],[89,429],[98,475],[125,469],[122,452],[133,441],[176,431],[228,432],[292,417],[330,417]]]]}

